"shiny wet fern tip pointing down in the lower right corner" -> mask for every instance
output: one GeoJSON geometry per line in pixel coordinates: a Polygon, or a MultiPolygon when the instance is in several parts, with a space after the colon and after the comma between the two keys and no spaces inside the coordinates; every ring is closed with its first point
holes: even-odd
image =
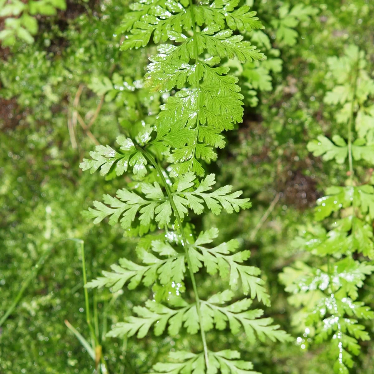
{"type": "Polygon", "coordinates": [[[335,372],[348,373],[347,367],[353,365],[350,353],[358,355],[360,352],[358,339],[370,339],[365,327],[351,317],[374,319],[374,312],[368,306],[355,301],[358,288],[373,273],[374,266],[346,257],[334,264],[332,272],[318,268],[305,270],[298,273],[286,268],[287,276],[282,276],[281,280],[287,285],[286,291],[297,295],[298,303],[301,300],[305,324],[316,327],[316,343],[331,342],[331,355],[340,365],[335,363],[335,372]],[[319,297],[316,291],[319,291],[319,297]]]}

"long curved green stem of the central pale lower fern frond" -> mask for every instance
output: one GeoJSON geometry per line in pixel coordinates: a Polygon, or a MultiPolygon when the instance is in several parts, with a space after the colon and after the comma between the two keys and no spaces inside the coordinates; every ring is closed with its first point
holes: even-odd
{"type": "Polygon", "coordinates": [[[208,346],[206,344],[205,331],[204,331],[203,323],[202,323],[202,315],[201,315],[201,310],[200,310],[201,301],[200,301],[200,298],[199,298],[199,293],[197,291],[195,275],[192,271],[191,259],[190,259],[190,255],[188,253],[189,244],[188,244],[188,241],[187,241],[187,238],[186,238],[186,234],[184,233],[184,229],[183,229],[183,226],[182,226],[182,220],[181,220],[181,217],[178,213],[177,206],[175,206],[170,187],[169,187],[168,183],[166,182],[166,179],[165,179],[165,177],[162,173],[162,169],[160,168],[160,166],[156,162],[156,159],[153,157],[153,155],[151,153],[149,153],[148,151],[146,151],[142,148],[140,148],[140,149],[145,154],[147,159],[151,162],[151,164],[154,166],[154,168],[157,170],[157,172],[160,175],[160,178],[162,179],[162,182],[165,186],[166,193],[168,194],[169,201],[170,201],[170,204],[172,206],[175,218],[177,219],[179,230],[181,232],[182,245],[183,245],[183,248],[184,248],[184,252],[186,254],[188,271],[190,272],[190,278],[191,278],[193,292],[194,292],[194,296],[195,296],[195,300],[196,300],[196,311],[197,311],[197,316],[199,318],[201,339],[203,341],[205,365],[206,365],[206,370],[208,371],[209,370],[208,346]]]}

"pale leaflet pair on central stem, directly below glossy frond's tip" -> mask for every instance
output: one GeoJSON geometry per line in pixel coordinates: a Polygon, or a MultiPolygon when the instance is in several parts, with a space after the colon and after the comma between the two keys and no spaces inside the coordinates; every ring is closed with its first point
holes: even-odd
{"type": "MultiPolygon", "coordinates": [[[[216,183],[214,174],[209,174],[203,179],[196,190],[186,191],[194,184],[195,179],[193,173],[188,173],[180,179],[177,191],[172,194],[173,202],[181,218],[188,212],[187,207],[196,214],[201,214],[204,210],[204,205],[202,205],[204,202],[214,214],[220,214],[222,208],[232,213],[238,212],[240,208],[248,209],[251,206],[249,199],[238,199],[242,191],[230,193],[232,186],[220,187],[216,191],[206,193],[216,183]]],[[[169,224],[172,215],[171,203],[160,185],[157,182],[153,185],[143,182],[140,184],[140,189],[144,198],[134,191],[123,188],[117,191],[117,197],[104,195],[104,203],[94,201],[93,205],[96,209],[89,208],[83,214],[86,218],[93,219],[95,224],[105,217],[110,217],[109,224],[111,225],[116,224],[122,216],[120,223],[123,229],[129,229],[135,218],[138,218],[142,232],[148,232],[153,220],[159,227],[169,224]]]]}

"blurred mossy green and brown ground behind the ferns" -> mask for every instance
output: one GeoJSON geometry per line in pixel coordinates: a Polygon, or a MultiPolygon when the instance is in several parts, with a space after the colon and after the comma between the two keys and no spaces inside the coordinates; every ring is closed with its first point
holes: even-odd
{"type": "MultiPolygon", "coordinates": [[[[1,327],[0,372],[90,373],[95,362],[64,323],[69,321],[88,339],[81,253],[76,243],[60,241],[84,240],[92,279],[120,257],[135,257],[137,239],[124,236],[119,225],[96,226],[81,215],[93,200],[113,194],[129,178],[82,174],[79,163],[95,145],[113,145],[117,135],[131,134],[144,116],[156,116],[165,97],[143,88],[154,47],[119,51],[117,29],[129,11],[128,1],[40,0],[39,8],[24,8],[26,3],[0,1],[0,318],[40,256],[52,251],[1,327]],[[4,10],[6,6],[13,8],[4,10]]],[[[295,343],[249,345],[243,336],[222,332],[208,333],[208,340],[239,350],[264,374],[331,373],[325,346],[312,344],[300,328],[298,308],[288,302],[278,275],[297,260],[311,261],[291,240],[301,223],[313,223],[313,207],[324,188],[344,185],[347,178],[347,165],[322,162],[306,145],[320,134],[344,136],[346,125],[334,120],[336,108],[324,103],[334,86],[327,58],[343,55],[354,44],[365,51],[371,74],[374,4],[303,0],[294,13],[300,2],[247,4],[265,29],[246,37],[268,59],[243,66],[227,62],[240,78],[245,115],[226,134],[229,145],[219,150],[218,162],[207,169],[215,172],[220,186],[229,183],[245,191],[252,208],[234,218],[207,214],[194,224],[218,227],[221,240],[239,237],[251,250],[252,264],[262,270],[271,295],[266,316],[291,333],[295,343]]],[[[362,170],[372,172],[369,166],[362,170]]],[[[218,278],[200,276],[198,282],[207,293],[224,289],[218,278]]],[[[368,278],[360,291],[372,309],[373,286],[368,278]]],[[[163,292],[146,287],[89,292],[93,325],[103,337],[110,373],[147,373],[175,346],[166,335],[104,337],[134,304],[163,292]]],[[[372,322],[366,322],[366,329],[373,335],[372,322]]],[[[194,339],[182,335],[178,344],[194,346],[194,339]]],[[[352,372],[370,374],[373,349],[370,341],[360,344],[362,353],[352,372]]]]}

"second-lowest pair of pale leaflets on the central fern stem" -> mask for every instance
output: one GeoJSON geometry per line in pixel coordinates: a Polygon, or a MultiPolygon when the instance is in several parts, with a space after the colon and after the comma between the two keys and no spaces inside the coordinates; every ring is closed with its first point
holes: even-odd
{"type": "MultiPolygon", "coordinates": [[[[223,330],[228,325],[232,334],[235,335],[239,333],[240,326],[242,326],[250,343],[255,341],[254,332],[261,341],[264,341],[266,337],[272,341],[291,339],[284,331],[278,330],[279,325],[271,325],[272,318],[259,318],[263,315],[263,310],[250,310],[251,299],[246,298],[227,306],[221,306],[231,301],[233,296],[233,292],[227,290],[202,302],[202,327],[205,331],[213,329],[214,326],[218,330],[223,330]]],[[[177,335],[182,325],[189,334],[196,334],[200,329],[196,305],[188,304],[181,299],[178,301],[178,309],[171,309],[147,300],[145,307],[134,307],[134,312],[138,317],[130,316],[126,318],[126,322],[117,323],[108,336],[132,336],[138,331],[137,337],[142,338],[152,325],[154,325],[156,336],[163,333],[167,324],[169,324],[168,334],[171,336],[177,335]]]]}

